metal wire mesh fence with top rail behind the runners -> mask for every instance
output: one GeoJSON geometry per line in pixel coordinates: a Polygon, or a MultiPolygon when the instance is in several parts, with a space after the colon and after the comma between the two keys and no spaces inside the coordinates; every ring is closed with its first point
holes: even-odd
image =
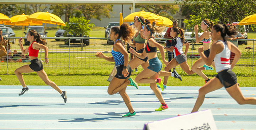
{"type": "MultiPolygon", "coordinates": [[[[11,38],[11,37],[9,37],[11,38]]],[[[12,37],[12,38],[20,38],[20,37],[12,37]]],[[[25,37],[24,37],[25,38],[25,37]]],[[[54,37],[48,37],[46,39],[100,39],[102,42],[106,42],[106,39],[109,38],[54,38],[54,37]]],[[[159,40],[159,38],[156,38],[156,40],[159,40]]],[[[161,39],[166,40],[166,39],[161,39]]],[[[198,52],[197,48],[202,45],[196,45],[193,41],[195,39],[186,39],[191,40],[192,43],[190,45],[190,49],[187,53],[187,62],[190,65],[190,67],[193,65],[193,63],[198,60],[198,52]],[[195,50],[193,50],[194,48],[195,50]]],[[[247,41],[248,45],[239,45],[239,49],[242,52],[241,58],[239,62],[236,64],[235,68],[233,69],[235,73],[241,74],[241,75],[255,75],[255,50],[254,50],[254,42],[256,39],[243,39],[242,41],[247,41]]],[[[9,44],[11,46],[10,50],[12,53],[14,50],[17,52],[20,51],[20,47],[18,44],[9,44]]],[[[24,46],[28,47],[28,46],[24,46]]],[[[49,47],[49,63],[44,63],[44,50],[39,51],[38,58],[42,59],[44,69],[48,70],[56,70],[56,69],[62,69],[63,71],[61,73],[72,73],[75,74],[79,72],[80,70],[84,69],[113,69],[114,63],[108,62],[106,60],[97,58],[95,56],[96,52],[103,52],[106,56],[111,56],[111,50],[112,46],[108,45],[72,45],[69,43],[69,45],[50,45],[49,47]]],[[[183,47],[185,50],[185,47],[183,47]]],[[[183,51],[184,51],[183,50],[183,51]]],[[[167,57],[167,53],[166,53],[167,57]]],[[[29,60],[20,60],[21,57],[12,57],[13,60],[7,60],[7,61],[0,61],[0,74],[14,74],[14,70],[18,67],[21,67],[25,64],[29,64],[29,60]]],[[[161,59],[161,58],[159,58],[161,59]]],[[[138,69],[142,69],[142,67],[138,67],[138,69]]],[[[182,69],[178,66],[176,70],[182,71],[182,69]]]]}

